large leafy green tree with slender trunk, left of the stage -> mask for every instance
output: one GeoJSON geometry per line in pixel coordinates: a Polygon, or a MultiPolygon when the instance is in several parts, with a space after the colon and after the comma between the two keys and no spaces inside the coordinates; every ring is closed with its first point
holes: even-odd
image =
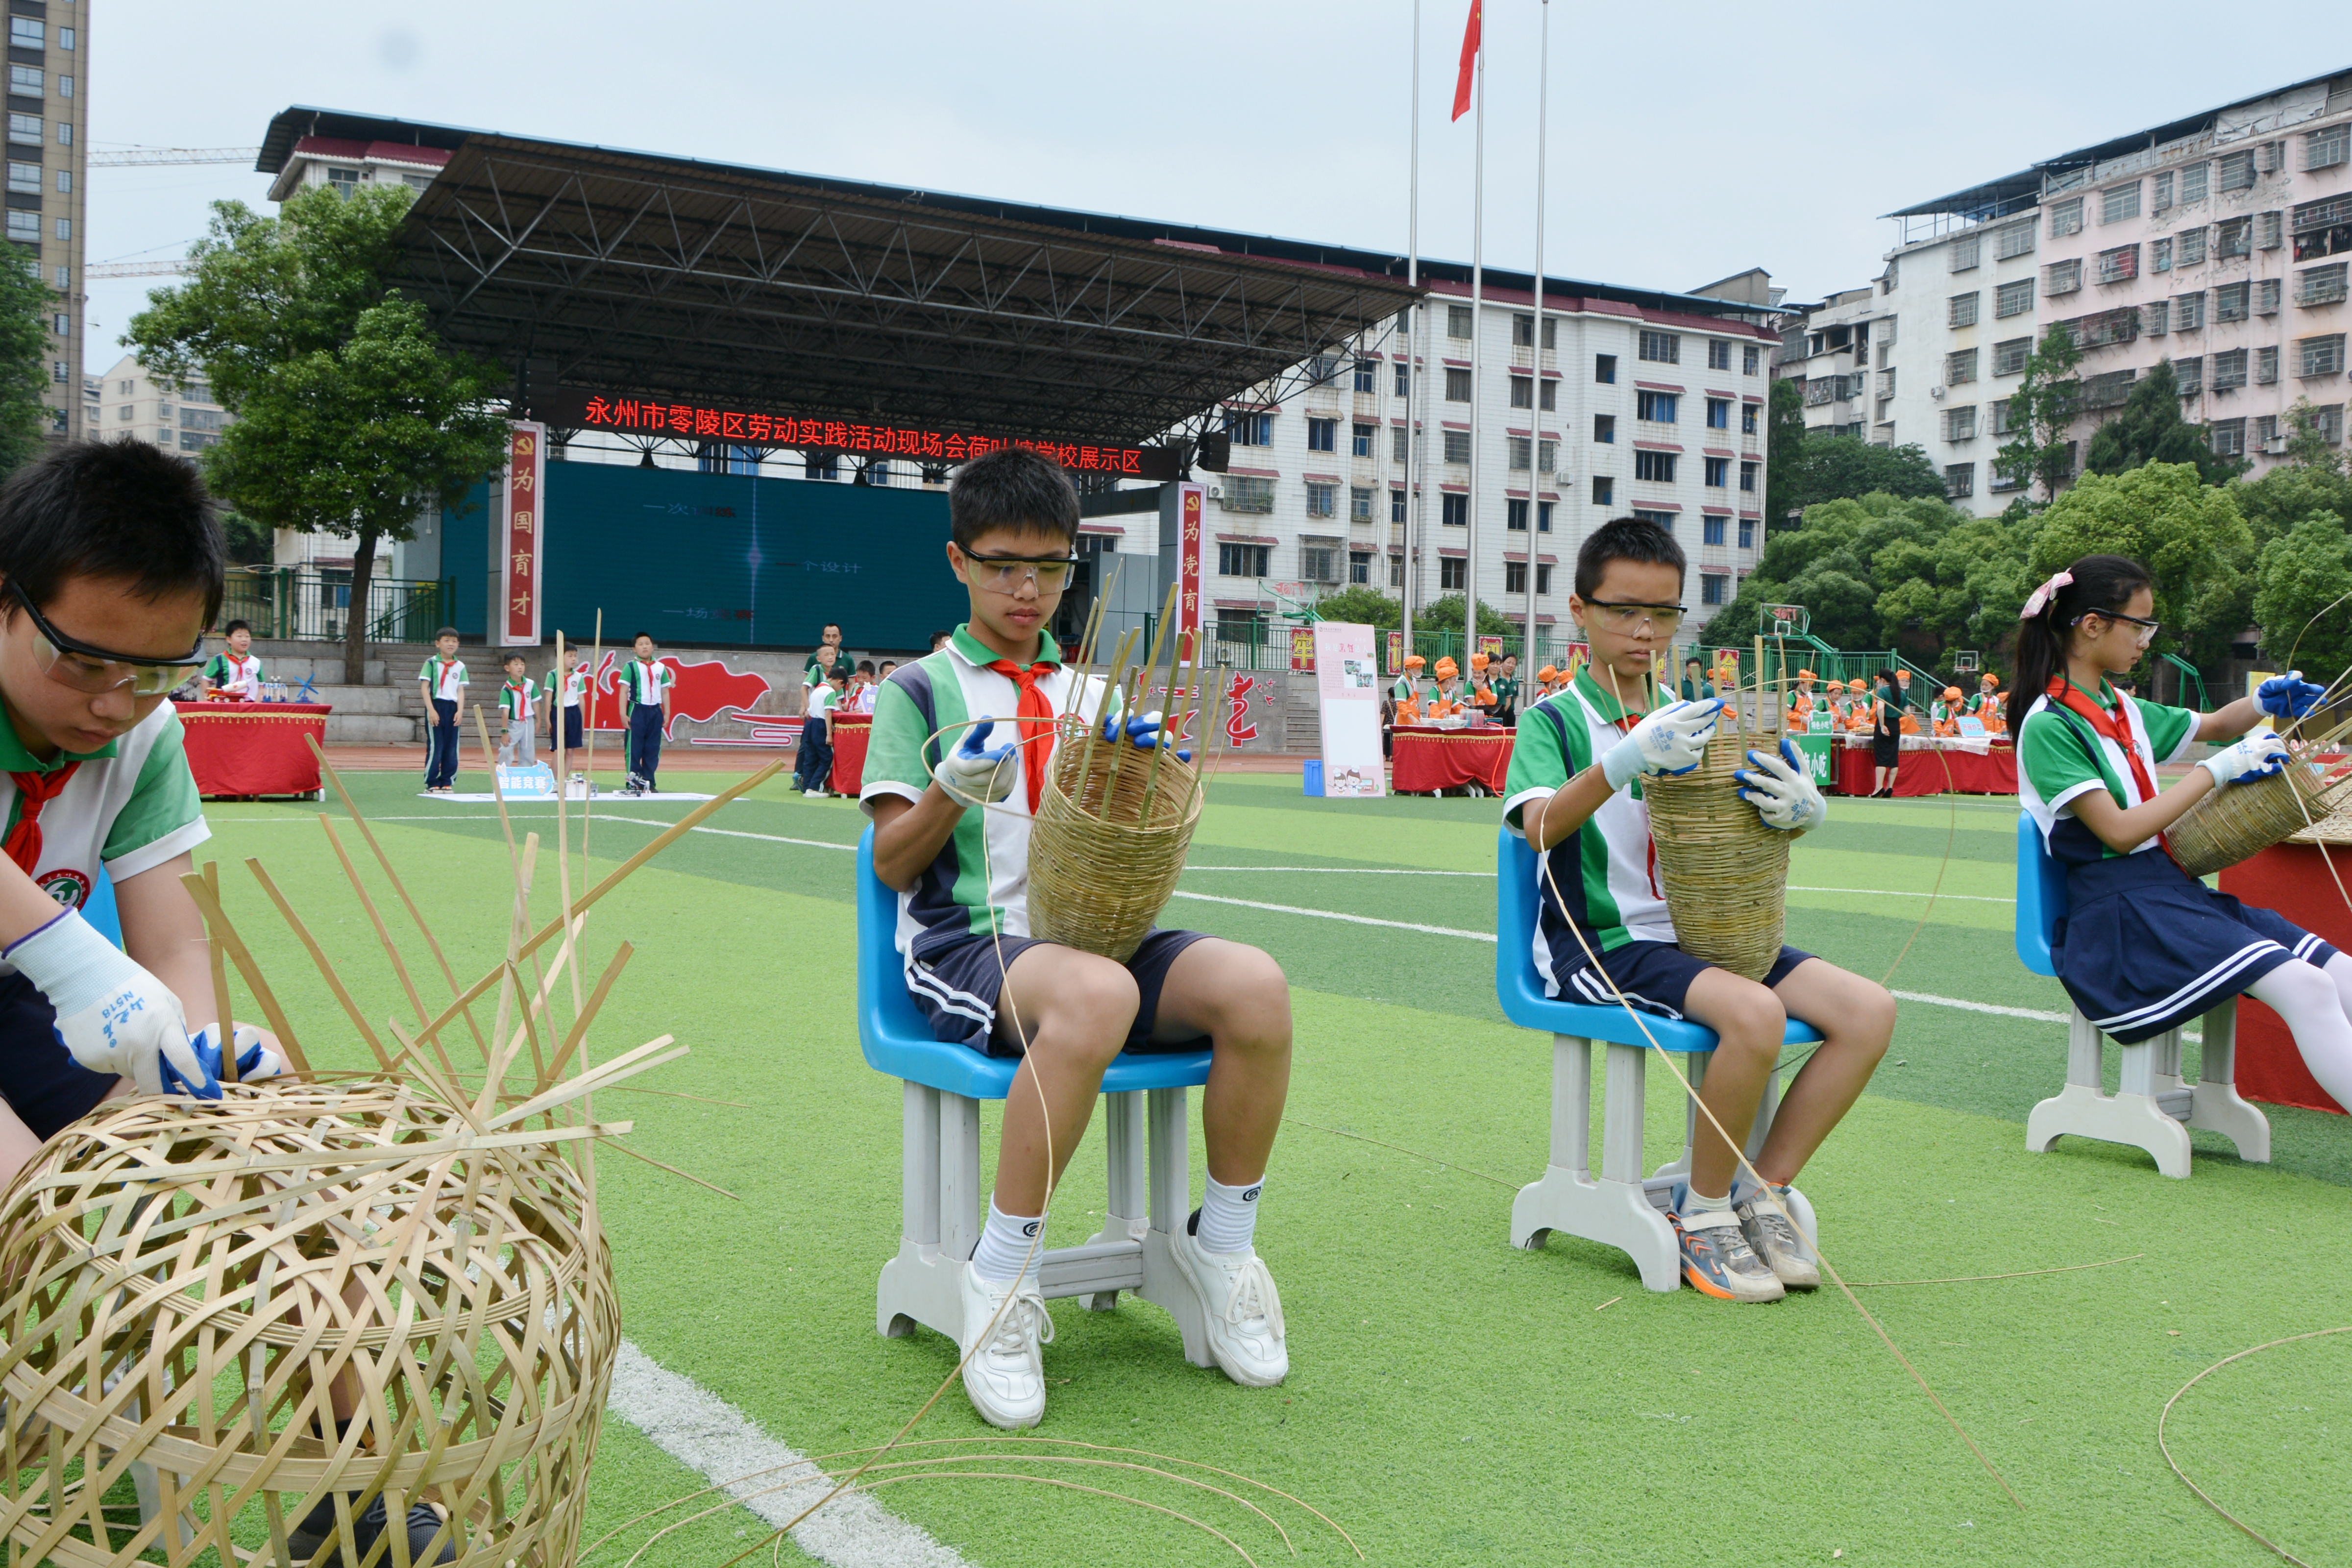
{"type": "Polygon", "coordinates": [[[209,381],[235,423],[205,451],[214,491],[263,529],[358,541],[343,679],[367,663],[376,545],[499,468],[506,371],[449,350],[423,306],[386,292],[414,195],[332,186],[268,219],[214,202],[188,282],[148,294],[125,343],[162,381],[209,381]]]}

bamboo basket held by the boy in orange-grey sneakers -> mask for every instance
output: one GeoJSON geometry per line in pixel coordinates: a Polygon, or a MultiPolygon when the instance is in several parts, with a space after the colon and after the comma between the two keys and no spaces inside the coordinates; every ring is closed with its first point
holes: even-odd
{"type": "Polygon", "coordinates": [[[1691,957],[1762,980],[1788,929],[1788,839],[1738,797],[1731,771],[1773,736],[1722,731],[1689,773],[1642,778],[1658,882],[1691,957]]]}

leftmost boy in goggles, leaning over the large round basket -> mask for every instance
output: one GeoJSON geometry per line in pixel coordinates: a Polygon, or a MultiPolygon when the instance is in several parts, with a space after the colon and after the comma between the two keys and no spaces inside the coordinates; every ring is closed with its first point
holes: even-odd
{"type": "MultiPolygon", "coordinates": [[[[202,665],[223,569],[195,465],[153,447],[54,447],[0,484],[0,1182],[99,1100],[221,1093],[179,882],[209,830],[165,696],[202,665]],[[80,914],[101,870],[122,950],[80,914]]],[[[235,1037],[240,1077],[280,1070],[235,1037]]]]}

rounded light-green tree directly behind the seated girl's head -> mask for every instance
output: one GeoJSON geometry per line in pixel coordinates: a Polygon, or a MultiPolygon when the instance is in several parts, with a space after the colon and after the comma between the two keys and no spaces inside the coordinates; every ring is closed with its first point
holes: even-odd
{"type": "Polygon", "coordinates": [[[2042,581],[2084,555],[2129,555],[2147,567],[2164,623],[2154,654],[2218,665],[2253,616],[2253,529],[2232,489],[2201,484],[2192,463],[2084,475],[2058,496],[2042,512],[2027,567],[2042,581]]]}

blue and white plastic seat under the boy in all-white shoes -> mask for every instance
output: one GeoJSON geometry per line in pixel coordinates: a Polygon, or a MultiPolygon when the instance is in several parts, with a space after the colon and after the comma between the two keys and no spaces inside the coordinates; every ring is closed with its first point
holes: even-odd
{"type": "MultiPolygon", "coordinates": [[[[1018,1060],[931,1037],[906,990],[896,945],[898,893],[875,875],[873,827],[858,839],[858,1044],[866,1065],[906,1084],[898,1255],[882,1265],[875,1326],[915,1324],[962,1338],[960,1269],[981,1239],[981,1100],[1002,1100],[1018,1060]]],[[[1192,1213],[1185,1088],[1209,1081],[1207,1051],[1122,1053],[1103,1072],[1110,1204],[1084,1246],[1040,1260],[1047,1298],[1077,1295],[1110,1312],[1120,1291],[1160,1302],[1183,1331],[1192,1366],[1214,1366],[1200,1295],[1176,1272],[1174,1237],[1192,1213]]]]}

